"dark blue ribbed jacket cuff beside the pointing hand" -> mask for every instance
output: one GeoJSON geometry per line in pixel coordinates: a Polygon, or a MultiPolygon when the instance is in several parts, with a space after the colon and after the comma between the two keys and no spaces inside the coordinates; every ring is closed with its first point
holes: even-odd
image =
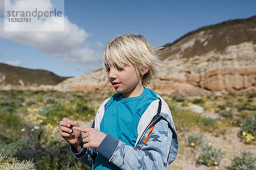
{"type": "Polygon", "coordinates": [[[106,159],[110,159],[118,146],[119,140],[114,138],[110,133],[102,140],[97,148],[97,152],[99,152],[106,159]]]}

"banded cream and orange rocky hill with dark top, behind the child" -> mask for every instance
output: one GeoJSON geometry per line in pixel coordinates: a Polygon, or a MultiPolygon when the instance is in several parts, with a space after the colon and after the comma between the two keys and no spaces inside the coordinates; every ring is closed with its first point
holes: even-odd
{"type": "MultiPolygon", "coordinates": [[[[256,88],[256,16],[204,26],[164,46],[162,73],[148,85],[159,94],[241,93],[256,88]]],[[[103,69],[41,89],[114,92],[103,69]]]]}

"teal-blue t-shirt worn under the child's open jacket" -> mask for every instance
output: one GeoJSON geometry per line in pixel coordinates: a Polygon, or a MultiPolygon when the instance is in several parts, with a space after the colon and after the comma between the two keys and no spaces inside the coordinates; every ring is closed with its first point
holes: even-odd
{"type": "MultiPolygon", "coordinates": [[[[137,97],[122,98],[122,94],[114,94],[105,105],[105,113],[100,123],[100,131],[110,133],[113,137],[131,147],[135,146],[138,138],[137,126],[140,117],[154,100],[157,94],[144,88],[137,97]]],[[[120,170],[101,154],[97,154],[93,170],[120,170]]]]}

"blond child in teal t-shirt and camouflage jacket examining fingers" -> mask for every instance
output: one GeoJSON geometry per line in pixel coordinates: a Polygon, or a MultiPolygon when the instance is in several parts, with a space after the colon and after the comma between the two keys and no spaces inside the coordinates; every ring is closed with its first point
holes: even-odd
{"type": "Polygon", "coordinates": [[[160,72],[159,49],[142,35],[115,37],[102,61],[117,93],[99,106],[92,128],[59,122],[71,152],[93,170],[168,170],[175,160],[178,138],[169,107],[145,88],[160,72]]]}

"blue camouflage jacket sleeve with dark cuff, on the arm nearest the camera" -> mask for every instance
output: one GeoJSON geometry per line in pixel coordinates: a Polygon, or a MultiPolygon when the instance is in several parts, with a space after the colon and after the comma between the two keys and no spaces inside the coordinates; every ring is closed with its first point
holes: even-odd
{"type": "Polygon", "coordinates": [[[171,127],[160,116],[151,133],[150,130],[149,127],[136,150],[108,134],[96,151],[122,170],[168,170],[171,127]]]}

